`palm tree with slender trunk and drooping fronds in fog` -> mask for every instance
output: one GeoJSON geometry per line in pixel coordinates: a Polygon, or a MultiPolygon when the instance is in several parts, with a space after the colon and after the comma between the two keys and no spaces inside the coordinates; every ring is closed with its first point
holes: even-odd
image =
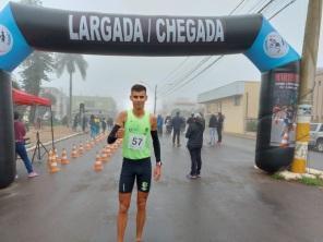
{"type": "Polygon", "coordinates": [[[87,62],[84,60],[82,55],[76,53],[58,53],[56,60],[56,71],[58,77],[60,77],[64,70],[70,75],[70,106],[69,106],[69,124],[72,120],[72,97],[73,97],[73,74],[76,72],[76,68],[79,69],[81,76],[83,80],[86,78],[86,70],[87,70],[87,62]]]}

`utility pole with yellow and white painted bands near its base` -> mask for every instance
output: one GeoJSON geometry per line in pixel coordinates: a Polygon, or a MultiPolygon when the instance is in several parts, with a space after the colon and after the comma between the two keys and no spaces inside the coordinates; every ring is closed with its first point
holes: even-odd
{"type": "Polygon", "coordinates": [[[308,159],[313,86],[316,72],[322,0],[309,0],[303,50],[300,66],[300,92],[297,110],[297,129],[291,171],[304,173],[308,159]]]}

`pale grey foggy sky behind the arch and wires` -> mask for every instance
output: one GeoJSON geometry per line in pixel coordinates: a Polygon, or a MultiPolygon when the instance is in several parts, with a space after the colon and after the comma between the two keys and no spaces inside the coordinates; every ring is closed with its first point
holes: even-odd
{"type": "MultiPolygon", "coordinates": [[[[0,0],[2,9],[8,1],[0,0]]],[[[240,0],[43,0],[43,5],[63,10],[123,13],[142,15],[201,15],[219,16],[228,13],[240,0]]],[[[242,4],[235,14],[246,14],[258,0],[249,0],[242,4]]],[[[287,0],[276,1],[288,2],[287,0]]],[[[280,5],[280,3],[278,3],[280,5]]],[[[303,32],[306,24],[308,0],[298,0],[271,23],[278,33],[301,55],[303,32]]],[[[268,8],[264,15],[272,16],[276,8],[268,8]]],[[[321,24],[321,33],[323,24],[321,24]]],[[[323,38],[320,39],[318,65],[323,66],[323,38]]],[[[132,84],[142,81],[148,84],[148,108],[153,107],[153,89],[157,84],[157,90],[167,90],[174,80],[184,73],[202,60],[204,57],[190,57],[178,71],[175,68],[186,60],[186,57],[116,57],[116,56],[85,56],[89,66],[86,81],[83,82],[79,74],[74,78],[74,95],[112,96],[119,108],[124,108],[129,97],[129,88],[132,84]],[[174,75],[165,80],[170,72],[174,75]]],[[[214,60],[214,59],[212,59],[214,60]]],[[[19,69],[13,74],[19,78],[19,69]]],[[[190,82],[189,85],[166,96],[164,99],[177,97],[196,100],[198,94],[235,81],[260,81],[259,70],[243,55],[224,57],[211,69],[190,82]]],[[[69,77],[64,74],[59,80],[52,75],[50,83],[45,86],[56,86],[68,94],[69,77]]],[[[157,92],[157,96],[163,95],[157,92]],[[158,95],[159,94],[159,95],[158,95]]],[[[162,102],[157,100],[158,107],[162,102]]]]}

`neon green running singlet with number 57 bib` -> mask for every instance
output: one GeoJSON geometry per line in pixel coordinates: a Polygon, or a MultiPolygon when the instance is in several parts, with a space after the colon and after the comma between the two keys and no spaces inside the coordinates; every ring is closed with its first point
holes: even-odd
{"type": "Polygon", "coordinates": [[[132,110],[127,111],[122,156],[128,159],[151,157],[151,116],[149,112],[136,118],[132,110]]]}

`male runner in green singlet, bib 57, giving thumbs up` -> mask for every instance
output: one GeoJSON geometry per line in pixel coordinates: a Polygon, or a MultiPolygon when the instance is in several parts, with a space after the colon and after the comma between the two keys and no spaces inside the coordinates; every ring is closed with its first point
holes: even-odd
{"type": "Polygon", "coordinates": [[[158,181],[162,174],[157,119],[144,110],[147,100],[146,87],[139,84],[132,86],[130,100],[133,108],[119,113],[108,136],[108,144],[112,144],[117,138],[123,138],[123,164],[119,181],[118,242],[123,242],[128,209],[135,180],[137,186],[136,241],[142,241],[152,179],[149,136],[153,140],[156,157],[155,181],[158,181]]]}

